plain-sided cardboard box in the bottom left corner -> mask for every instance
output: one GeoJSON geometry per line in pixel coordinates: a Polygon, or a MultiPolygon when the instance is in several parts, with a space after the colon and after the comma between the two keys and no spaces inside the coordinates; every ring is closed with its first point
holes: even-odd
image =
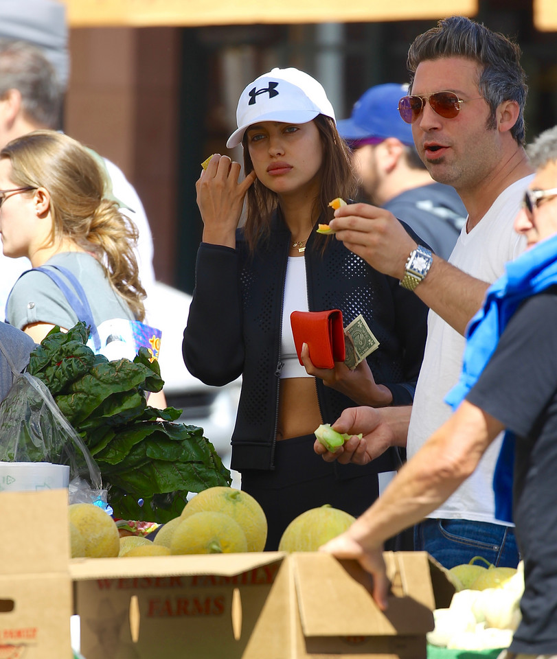
{"type": "Polygon", "coordinates": [[[67,505],[67,489],[0,492],[0,657],[73,657],[67,505]]]}

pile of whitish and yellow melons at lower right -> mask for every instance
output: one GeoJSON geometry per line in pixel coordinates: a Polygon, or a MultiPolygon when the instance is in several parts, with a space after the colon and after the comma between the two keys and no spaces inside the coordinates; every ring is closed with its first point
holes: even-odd
{"type": "Polygon", "coordinates": [[[448,649],[489,650],[508,647],[521,621],[524,564],[505,568],[469,564],[448,570],[456,592],[448,608],[433,612],[435,629],[428,643],[448,649]]]}

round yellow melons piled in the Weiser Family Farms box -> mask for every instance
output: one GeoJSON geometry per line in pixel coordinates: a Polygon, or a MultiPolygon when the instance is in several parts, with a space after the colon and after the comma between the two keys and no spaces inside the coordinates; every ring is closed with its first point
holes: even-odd
{"type": "MultiPolygon", "coordinates": [[[[72,557],[154,556],[264,551],[267,520],[259,503],[233,487],[209,487],[187,502],[181,515],[157,533],[123,535],[103,509],[89,503],[69,507],[72,557]]],[[[317,551],[343,533],[354,517],[324,505],[297,516],[286,527],[280,551],[317,551]]]]}

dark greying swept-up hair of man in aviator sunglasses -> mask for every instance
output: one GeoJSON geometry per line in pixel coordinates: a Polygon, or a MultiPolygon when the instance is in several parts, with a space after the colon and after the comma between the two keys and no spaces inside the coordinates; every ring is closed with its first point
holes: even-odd
{"type": "Polygon", "coordinates": [[[516,101],[520,112],[511,129],[512,137],[523,146],[525,141],[524,107],[528,86],[521,66],[521,49],[508,37],[492,32],[482,23],[466,16],[442,19],[431,30],[414,39],[408,51],[411,84],[420,62],[444,57],[464,57],[477,62],[481,72],[478,89],[490,106],[488,128],[496,126],[495,113],[504,101],[516,101]]]}

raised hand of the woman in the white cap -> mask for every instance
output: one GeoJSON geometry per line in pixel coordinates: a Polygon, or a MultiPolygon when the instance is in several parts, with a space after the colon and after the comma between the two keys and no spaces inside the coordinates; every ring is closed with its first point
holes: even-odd
{"type": "Polygon", "coordinates": [[[242,181],[240,163],[216,153],[195,184],[197,205],[203,219],[203,242],[236,246],[236,228],[244,198],[255,181],[255,172],[242,181]]]}

